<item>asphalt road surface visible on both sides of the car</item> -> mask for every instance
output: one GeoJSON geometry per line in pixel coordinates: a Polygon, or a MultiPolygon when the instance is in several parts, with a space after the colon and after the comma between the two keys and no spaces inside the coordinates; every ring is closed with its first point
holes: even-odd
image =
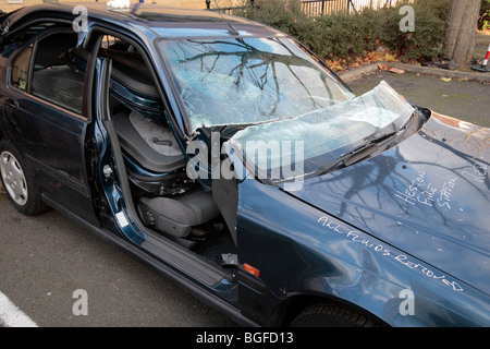
{"type": "MultiPolygon", "coordinates": [[[[387,72],[350,85],[358,95],[381,80],[420,106],[490,127],[490,85],[387,72]]],[[[39,326],[234,325],[54,210],[25,217],[0,193],[0,292],[39,326]],[[73,313],[78,289],[87,292],[87,315],[73,313]]]]}

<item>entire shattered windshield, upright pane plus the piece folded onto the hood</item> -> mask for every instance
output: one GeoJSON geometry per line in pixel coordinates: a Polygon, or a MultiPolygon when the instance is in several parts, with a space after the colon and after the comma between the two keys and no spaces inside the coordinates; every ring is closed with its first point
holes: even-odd
{"type": "Polygon", "coordinates": [[[224,145],[262,179],[319,173],[375,137],[397,133],[415,110],[385,82],[354,96],[286,38],[175,39],[159,45],[191,132],[242,125],[232,128],[224,145]]]}

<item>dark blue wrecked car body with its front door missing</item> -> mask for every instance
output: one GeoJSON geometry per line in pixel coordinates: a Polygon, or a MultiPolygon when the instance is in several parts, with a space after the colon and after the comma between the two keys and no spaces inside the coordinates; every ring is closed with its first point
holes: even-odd
{"type": "MultiPolygon", "coordinates": [[[[76,47],[89,55],[71,60],[79,59],[76,69],[85,72],[76,111],[33,95],[33,75],[26,75],[25,86],[14,87],[11,74],[26,47],[36,50],[45,33],[58,25],[70,32],[79,13],[71,4],[45,4],[0,16],[0,140],[9,144],[0,153],[19,157],[27,184],[44,203],[243,325],[284,326],[295,318],[298,324],[315,309],[341,309],[365,325],[490,325],[488,129],[417,108],[418,121],[407,136],[351,166],[307,178],[301,190],[249,176],[198,181],[194,185],[212,195],[219,222],[229,230],[194,232],[192,239],[158,233],[151,228],[159,225],[154,204],[148,200],[149,209],[140,206],[138,193],[154,190],[151,200],[163,203],[155,188],[174,186],[155,183],[171,178],[181,183],[179,189],[189,184],[181,170],[149,170],[138,164],[132,144],[118,136],[107,96],[148,118],[163,118],[186,154],[188,120],[156,43],[234,36],[230,24],[243,36],[283,34],[208,11],[83,5],[88,9],[86,29],[77,33],[76,47]],[[157,96],[163,98],[127,93],[122,80],[109,79],[110,58],[99,58],[93,49],[102,34],[139,48],[157,96]],[[219,263],[211,253],[217,245],[219,263]]],[[[204,132],[200,136],[207,141],[204,132]]],[[[240,160],[234,161],[236,169],[240,160]]]]}

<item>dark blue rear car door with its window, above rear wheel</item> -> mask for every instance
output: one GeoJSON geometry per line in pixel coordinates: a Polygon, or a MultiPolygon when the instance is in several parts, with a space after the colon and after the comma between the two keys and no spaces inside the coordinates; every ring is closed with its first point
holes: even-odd
{"type": "Polygon", "coordinates": [[[90,125],[84,106],[88,76],[72,55],[77,50],[77,33],[49,21],[25,31],[36,34],[12,52],[7,86],[0,87],[7,132],[44,195],[96,224],[85,154],[90,125]]]}

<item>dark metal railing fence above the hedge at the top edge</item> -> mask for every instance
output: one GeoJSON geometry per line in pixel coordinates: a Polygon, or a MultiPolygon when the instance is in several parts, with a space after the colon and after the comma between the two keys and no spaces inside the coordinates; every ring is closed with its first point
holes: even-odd
{"type": "MultiPolygon", "coordinates": [[[[382,7],[392,7],[402,0],[305,0],[301,1],[302,11],[310,16],[319,16],[333,13],[357,13],[366,8],[379,9],[382,7]]],[[[249,4],[242,7],[211,8],[211,0],[206,0],[208,10],[218,11],[226,14],[240,14],[246,9],[260,10],[257,1],[250,0],[249,4]]]]}

